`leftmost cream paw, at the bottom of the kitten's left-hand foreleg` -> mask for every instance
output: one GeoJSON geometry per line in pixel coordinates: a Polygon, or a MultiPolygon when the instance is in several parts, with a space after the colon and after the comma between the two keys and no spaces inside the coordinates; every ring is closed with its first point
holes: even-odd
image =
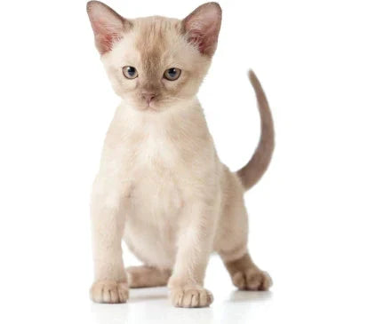
{"type": "Polygon", "coordinates": [[[125,303],[129,296],[128,283],[117,281],[96,281],[91,287],[90,295],[92,301],[95,303],[125,303]]]}

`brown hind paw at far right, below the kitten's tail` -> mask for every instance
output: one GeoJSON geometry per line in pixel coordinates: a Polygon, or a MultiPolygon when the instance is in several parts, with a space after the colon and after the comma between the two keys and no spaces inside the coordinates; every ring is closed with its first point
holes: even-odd
{"type": "Polygon", "coordinates": [[[241,290],[268,290],[272,286],[269,274],[257,268],[234,273],[232,282],[241,290]]]}

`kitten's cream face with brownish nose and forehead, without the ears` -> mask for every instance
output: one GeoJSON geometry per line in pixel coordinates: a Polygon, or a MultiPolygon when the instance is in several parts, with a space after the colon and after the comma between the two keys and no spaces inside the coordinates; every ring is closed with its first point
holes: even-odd
{"type": "Polygon", "coordinates": [[[133,20],[103,55],[116,93],[132,107],[161,109],[196,95],[211,59],[187,43],[181,30],[180,20],[133,20]]]}

